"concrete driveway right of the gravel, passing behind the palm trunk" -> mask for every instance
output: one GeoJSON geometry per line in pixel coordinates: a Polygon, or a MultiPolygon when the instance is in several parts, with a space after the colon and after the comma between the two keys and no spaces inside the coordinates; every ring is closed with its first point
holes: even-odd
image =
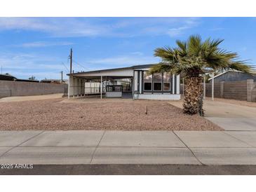
{"type": "MultiPolygon", "coordinates": [[[[169,103],[182,108],[181,101],[169,103]]],[[[224,130],[256,131],[256,107],[205,100],[203,108],[206,118],[224,130]]]]}

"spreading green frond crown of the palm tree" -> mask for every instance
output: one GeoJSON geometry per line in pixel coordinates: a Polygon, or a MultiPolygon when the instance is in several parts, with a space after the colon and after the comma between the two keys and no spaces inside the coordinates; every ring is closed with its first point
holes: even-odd
{"type": "Polygon", "coordinates": [[[201,36],[189,36],[187,41],[177,40],[177,48],[156,48],[154,56],[161,57],[163,63],[151,67],[151,73],[171,71],[185,73],[187,76],[204,74],[206,69],[236,69],[252,73],[246,61],[238,60],[238,54],[219,48],[223,39],[210,38],[202,41],[201,36]]]}

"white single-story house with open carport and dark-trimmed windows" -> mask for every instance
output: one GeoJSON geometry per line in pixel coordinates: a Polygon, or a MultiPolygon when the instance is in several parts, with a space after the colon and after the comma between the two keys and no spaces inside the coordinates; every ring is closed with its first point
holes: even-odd
{"type": "MultiPolygon", "coordinates": [[[[129,81],[130,95],[134,99],[180,100],[180,75],[148,74],[153,64],[134,65],[116,69],[82,71],[67,74],[69,76],[68,97],[85,95],[86,82],[100,83],[100,95],[122,97],[123,85],[114,85],[114,81],[129,81]]],[[[127,88],[126,88],[127,89],[127,88]]],[[[129,90],[129,89],[128,89],[129,90]]]]}

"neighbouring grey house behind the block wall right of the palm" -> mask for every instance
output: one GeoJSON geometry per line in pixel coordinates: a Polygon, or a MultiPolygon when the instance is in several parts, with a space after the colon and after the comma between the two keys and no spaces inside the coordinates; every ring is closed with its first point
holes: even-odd
{"type": "Polygon", "coordinates": [[[246,81],[248,79],[256,81],[256,75],[245,74],[242,71],[224,71],[221,74],[209,78],[210,83],[212,83],[213,78],[215,83],[220,83],[221,81],[246,81]]]}

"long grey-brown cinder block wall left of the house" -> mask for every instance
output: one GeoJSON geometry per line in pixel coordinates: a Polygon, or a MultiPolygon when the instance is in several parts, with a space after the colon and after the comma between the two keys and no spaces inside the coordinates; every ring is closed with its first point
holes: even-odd
{"type": "Polygon", "coordinates": [[[0,81],[0,97],[67,93],[67,84],[0,81]]]}

